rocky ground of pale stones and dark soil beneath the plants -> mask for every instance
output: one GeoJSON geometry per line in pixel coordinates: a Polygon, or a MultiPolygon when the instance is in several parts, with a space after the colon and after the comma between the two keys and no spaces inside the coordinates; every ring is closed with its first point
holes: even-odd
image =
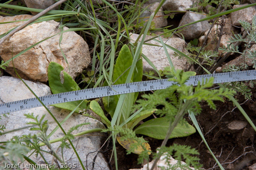
{"type": "MultiPolygon", "coordinates": [[[[154,11],[158,2],[154,3],[155,0],[149,0],[148,4],[144,4],[143,7],[150,5],[148,9],[154,11]]],[[[241,2],[241,5],[233,5],[232,8],[238,8],[246,5],[245,3],[250,3],[249,1],[241,2]]],[[[182,26],[188,23],[192,23],[193,21],[197,21],[206,17],[206,14],[209,13],[207,11],[209,8],[205,8],[203,13],[195,13],[190,12],[187,8],[190,8],[192,5],[191,0],[182,0],[182,1],[172,1],[166,0],[166,2],[162,5],[160,11],[182,11],[176,13],[173,18],[163,17],[165,13],[158,12],[155,19],[153,19],[155,23],[155,28],[163,28],[168,25],[173,25],[170,29],[177,28],[178,26],[182,26]]],[[[27,5],[30,7],[29,5],[27,5]]],[[[215,5],[216,6],[216,5],[215,5]]],[[[32,7],[33,8],[33,7],[32,7]]],[[[151,12],[144,12],[141,17],[150,16],[151,12]]],[[[249,23],[252,23],[253,16],[256,15],[255,7],[249,7],[246,9],[242,9],[237,12],[232,12],[229,15],[225,15],[225,17],[219,17],[218,24],[212,25],[211,21],[202,21],[200,23],[196,23],[193,25],[189,25],[184,29],[178,29],[180,33],[175,33],[172,37],[163,37],[163,41],[177,50],[184,52],[187,54],[187,44],[191,40],[198,40],[198,44],[196,46],[201,47],[203,44],[207,44],[205,47],[206,50],[216,50],[218,47],[227,47],[227,40],[236,33],[242,33],[241,24],[238,20],[246,20],[249,23]],[[212,26],[212,27],[211,27],[212,26]],[[220,28],[223,28],[222,30],[220,28]],[[182,34],[182,35],[181,35],[182,34]]],[[[8,22],[22,19],[30,19],[32,15],[18,15],[18,16],[0,16],[0,22],[8,22]]],[[[147,20],[147,19],[145,19],[147,20]]],[[[22,24],[24,21],[14,22],[14,23],[5,23],[0,24],[0,34],[7,32],[8,30],[15,28],[16,26],[22,24]]],[[[18,54],[20,51],[32,46],[33,44],[46,39],[54,34],[56,34],[58,29],[56,29],[56,25],[58,23],[56,21],[43,21],[41,23],[31,24],[28,27],[18,31],[15,33],[10,39],[4,41],[4,43],[0,46],[0,56],[1,60],[7,61],[11,59],[12,56],[18,54]],[[12,48],[15,46],[15,48],[12,48]]],[[[68,29],[64,27],[64,30],[68,29]]],[[[160,34],[162,32],[151,32],[151,35],[146,37],[150,39],[154,36],[154,34],[160,34]]],[[[130,33],[131,43],[133,43],[138,34],[130,33]]],[[[17,60],[14,60],[15,68],[17,69],[19,75],[28,80],[27,83],[33,89],[33,91],[39,95],[49,95],[51,94],[50,88],[48,87],[48,72],[47,68],[49,66],[49,62],[53,61],[61,64],[64,67],[64,71],[68,72],[69,75],[73,79],[81,74],[84,69],[90,70],[90,64],[92,56],[90,56],[89,47],[92,42],[86,42],[84,39],[79,36],[76,32],[67,32],[63,34],[63,40],[61,41],[62,51],[59,47],[59,36],[54,36],[48,40],[43,41],[42,43],[36,44],[26,53],[20,55],[17,60]],[[65,53],[67,57],[68,64],[65,62],[63,58],[62,52],[65,53]],[[31,57],[33,56],[33,57],[31,57]],[[70,71],[69,71],[70,69],[70,71]]],[[[157,38],[159,40],[159,38],[157,38]]],[[[147,43],[155,44],[161,46],[161,43],[156,41],[148,41],[147,43]]],[[[252,42],[251,49],[255,49],[255,42],[252,42]]],[[[205,46],[204,44],[204,46],[205,46]]],[[[242,45],[240,45],[242,48],[242,45]]],[[[190,65],[186,59],[179,59],[174,56],[174,51],[168,49],[167,52],[172,59],[174,67],[176,69],[182,70],[192,70],[196,71],[197,74],[203,74],[203,70],[197,65],[190,65]]],[[[158,70],[163,70],[164,67],[169,65],[169,61],[166,58],[166,54],[163,48],[158,46],[149,46],[143,45],[142,53],[147,56],[147,58],[154,63],[155,67],[158,70]]],[[[225,55],[225,54],[224,54],[225,55]]],[[[224,56],[222,51],[219,51],[217,57],[214,59],[218,59],[219,57],[224,56]]],[[[243,59],[240,55],[230,54],[226,60],[222,63],[217,63],[218,66],[209,68],[211,72],[221,72],[223,68],[230,64],[234,64],[239,66],[241,64],[241,60],[243,59]]],[[[249,66],[249,69],[252,68],[253,62],[252,60],[246,61],[246,64],[249,66]]],[[[150,72],[155,70],[143,59],[143,71],[150,72]]],[[[10,102],[14,100],[21,100],[25,98],[34,97],[29,90],[24,86],[24,84],[14,77],[17,77],[13,65],[10,64],[6,70],[1,70],[2,75],[0,76],[0,104],[5,102],[10,102]],[[12,95],[10,95],[12,94],[12,95]]],[[[248,85],[249,86],[249,85],[248,85]]],[[[250,87],[250,86],[249,86],[250,87]]],[[[251,99],[245,99],[243,95],[237,94],[236,98],[242,108],[246,111],[248,116],[251,118],[252,122],[256,124],[256,88],[250,87],[252,91],[251,99]]],[[[201,130],[206,138],[208,145],[210,146],[212,152],[217,157],[219,162],[225,169],[230,170],[256,170],[256,151],[255,151],[255,131],[252,129],[251,125],[246,121],[241,112],[233,105],[229,100],[225,100],[224,103],[217,102],[217,110],[212,110],[208,107],[206,103],[202,103],[201,106],[203,108],[202,114],[197,115],[196,118],[201,127],[201,130]]],[[[62,120],[69,112],[63,109],[59,109],[53,106],[49,106],[49,109],[56,116],[58,120],[62,120]],[[61,114],[60,114],[61,113],[61,114]]],[[[37,112],[39,115],[46,114],[44,108],[33,108],[30,110],[26,110],[25,112],[37,112]]],[[[7,130],[13,130],[17,128],[23,127],[25,123],[28,121],[23,114],[24,111],[17,111],[7,116],[7,118],[3,118],[1,120],[1,124],[4,124],[7,130]]],[[[147,119],[151,119],[153,117],[149,117],[147,119]]],[[[52,123],[51,118],[50,122],[50,130],[56,127],[56,124],[52,123]]],[[[187,121],[192,124],[189,116],[186,115],[187,121]]],[[[91,125],[89,127],[86,126],[86,129],[93,128],[103,128],[103,124],[98,120],[87,118],[85,116],[76,114],[72,115],[67,122],[67,126],[64,126],[65,129],[71,127],[71,122],[83,123],[90,122],[91,125]]],[[[83,131],[84,129],[80,129],[78,132],[83,131]]],[[[14,135],[19,134],[27,134],[28,130],[22,130],[18,133],[9,133],[4,137],[0,137],[0,141],[7,141],[12,138],[14,135]]],[[[50,139],[62,137],[60,131],[57,131],[56,135],[52,136],[50,139]]],[[[112,144],[111,142],[102,149],[102,153],[96,155],[93,153],[101,148],[101,141],[105,141],[106,136],[96,133],[89,137],[78,138],[74,140],[76,147],[78,148],[79,155],[82,155],[83,161],[89,162],[88,167],[94,169],[114,169],[114,160],[110,161],[110,157],[112,154],[112,144]],[[86,143],[86,147],[84,146],[86,143]],[[89,155],[89,157],[88,157],[89,155]],[[96,164],[93,165],[94,159],[96,159],[96,164]]],[[[145,137],[145,139],[149,142],[151,149],[155,151],[157,147],[161,145],[161,140],[152,139],[149,137],[145,137]]],[[[200,163],[203,165],[204,169],[217,170],[219,167],[217,166],[214,158],[212,158],[210,152],[208,151],[206,145],[203,143],[202,138],[198,133],[190,135],[189,137],[178,138],[178,139],[170,139],[167,145],[172,145],[173,143],[181,144],[181,145],[189,145],[193,148],[199,150],[200,153],[200,163]]],[[[59,145],[54,145],[53,148],[58,150],[59,145]]],[[[44,149],[47,150],[45,147],[44,149]]],[[[60,150],[59,150],[60,152],[60,150]]],[[[126,150],[118,145],[117,146],[118,153],[118,167],[122,170],[128,169],[140,169],[143,166],[138,165],[136,162],[137,155],[131,154],[126,155],[126,150]]],[[[41,158],[33,157],[37,162],[42,161],[41,158]]],[[[51,157],[47,159],[47,161],[51,161],[51,157]]],[[[74,153],[66,150],[65,159],[72,160],[73,162],[78,161],[74,158],[74,153]]],[[[152,161],[152,157],[150,157],[150,161],[152,161]]],[[[79,164],[79,163],[78,163],[79,164]]],[[[79,167],[81,168],[81,167],[79,167]]]]}

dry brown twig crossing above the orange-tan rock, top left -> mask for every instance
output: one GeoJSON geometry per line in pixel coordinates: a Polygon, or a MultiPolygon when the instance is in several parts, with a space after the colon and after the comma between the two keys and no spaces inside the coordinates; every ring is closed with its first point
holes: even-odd
{"type": "Polygon", "coordinates": [[[47,12],[49,12],[50,10],[52,10],[53,8],[57,7],[58,5],[64,3],[67,0],[60,0],[58,2],[56,2],[55,4],[51,5],[50,7],[46,8],[44,11],[38,13],[37,15],[33,16],[31,19],[27,20],[25,23],[19,25],[17,28],[15,28],[14,30],[12,30],[11,32],[9,32],[7,35],[5,35],[3,38],[1,38],[0,40],[0,46],[3,44],[3,42],[5,40],[7,40],[8,38],[10,38],[15,32],[18,32],[20,29],[26,27],[26,25],[32,23],[33,21],[35,21],[36,19],[38,19],[39,17],[41,17],[42,15],[45,15],[47,12]]]}

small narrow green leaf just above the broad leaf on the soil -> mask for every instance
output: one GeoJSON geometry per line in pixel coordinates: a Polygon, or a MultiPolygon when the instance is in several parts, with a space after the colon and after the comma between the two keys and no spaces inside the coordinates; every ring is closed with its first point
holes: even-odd
{"type": "Polygon", "coordinates": [[[138,115],[136,115],[134,118],[132,118],[127,125],[127,128],[133,129],[141,120],[146,119],[148,116],[152,115],[157,109],[148,109],[145,111],[140,112],[138,115]]]}

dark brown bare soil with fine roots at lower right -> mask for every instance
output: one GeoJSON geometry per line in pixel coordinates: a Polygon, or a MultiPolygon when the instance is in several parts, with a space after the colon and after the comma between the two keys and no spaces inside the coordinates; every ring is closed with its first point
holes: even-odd
{"type": "MultiPolygon", "coordinates": [[[[256,124],[255,88],[252,89],[252,94],[251,100],[246,100],[244,96],[239,94],[235,98],[252,122],[256,124]]],[[[249,166],[256,163],[256,133],[238,108],[233,105],[233,102],[225,100],[224,103],[215,102],[215,104],[217,110],[212,110],[207,103],[202,103],[202,113],[196,116],[204,138],[224,169],[248,170],[249,166]]],[[[186,119],[189,124],[193,124],[188,115],[186,115],[186,119]]],[[[149,137],[145,137],[145,139],[154,152],[162,143],[162,140],[149,137]]],[[[200,163],[204,169],[219,169],[199,133],[196,132],[189,137],[169,139],[167,145],[173,143],[188,145],[197,149],[200,153],[200,163]]],[[[142,167],[142,165],[137,164],[138,156],[136,154],[126,155],[126,150],[118,143],[116,145],[118,169],[128,170],[142,167]]],[[[105,154],[107,159],[111,157],[111,154],[112,150],[105,154]]],[[[152,158],[150,158],[150,161],[152,161],[152,158]]],[[[110,164],[115,169],[114,158],[112,158],[110,164]]]]}

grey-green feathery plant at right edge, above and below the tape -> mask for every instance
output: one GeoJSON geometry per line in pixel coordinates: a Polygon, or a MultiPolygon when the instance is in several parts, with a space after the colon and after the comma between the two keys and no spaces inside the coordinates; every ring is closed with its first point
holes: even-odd
{"type": "MultiPolygon", "coordinates": [[[[223,72],[229,71],[241,71],[248,68],[246,61],[249,60],[253,64],[253,68],[256,69],[256,51],[255,49],[251,50],[251,43],[256,42],[256,16],[253,17],[252,24],[248,23],[247,21],[239,21],[242,25],[244,30],[247,33],[245,38],[242,38],[240,34],[234,35],[234,37],[229,38],[227,41],[227,47],[223,46],[223,48],[219,48],[219,50],[223,50],[223,52],[234,52],[240,54],[242,57],[243,62],[240,63],[238,66],[230,65],[223,69],[223,72]],[[234,46],[232,43],[242,42],[244,43],[244,51],[240,52],[238,46],[234,46]]],[[[254,84],[253,81],[250,81],[249,84],[254,84]]],[[[232,88],[237,92],[240,92],[242,95],[245,96],[245,99],[251,99],[251,90],[245,83],[242,82],[229,82],[223,84],[227,88],[232,88]]]]}

